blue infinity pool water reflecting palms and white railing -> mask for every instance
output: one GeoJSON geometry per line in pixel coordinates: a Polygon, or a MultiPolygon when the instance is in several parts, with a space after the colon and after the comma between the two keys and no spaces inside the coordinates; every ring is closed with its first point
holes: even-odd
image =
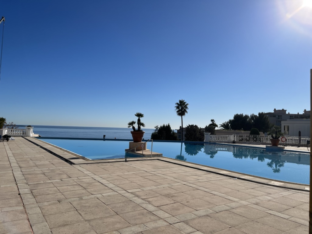
{"type": "MultiPolygon", "coordinates": [[[[43,139],[91,160],[124,158],[129,141],[43,139]]],[[[151,149],[151,142],[147,143],[151,149]]],[[[269,179],[310,184],[310,154],[203,143],[153,142],[164,157],[269,179]]]]}

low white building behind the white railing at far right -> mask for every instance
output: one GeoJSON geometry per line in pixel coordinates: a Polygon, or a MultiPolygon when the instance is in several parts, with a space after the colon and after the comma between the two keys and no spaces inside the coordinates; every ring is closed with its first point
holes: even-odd
{"type": "Polygon", "coordinates": [[[281,121],[281,131],[284,136],[301,136],[310,137],[310,119],[288,119],[281,121]]]}

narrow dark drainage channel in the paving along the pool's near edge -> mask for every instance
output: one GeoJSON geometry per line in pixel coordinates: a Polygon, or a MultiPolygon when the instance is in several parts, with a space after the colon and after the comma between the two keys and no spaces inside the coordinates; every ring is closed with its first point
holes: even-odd
{"type": "MultiPolygon", "coordinates": [[[[297,190],[297,191],[304,191],[304,192],[307,192],[307,191],[310,191],[310,190],[307,190],[307,189],[300,189],[300,188],[293,188],[293,187],[287,187],[287,186],[282,186],[282,185],[276,185],[276,184],[268,184],[268,183],[265,183],[265,182],[261,182],[261,181],[255,181],[255,180],[252,180],[252,179],[246,179],[246,178],[241,178],[241,177],[237,177],[237,176],[233,176],[233,175],[228,175],[228,174],[223,174],[223,173],[220,173],[220,172],[216,172],[216,171],[211,171],[211,170],[206,170],[206,169],[202,169],[202,168],[198,168],[198,167],[195,167],[195,166],[191,166],[191,165],[184,165],[184,164],[181,164],[181,163],[178,163],[178,162],[172,162],[170,160],[175,160],[175,159],[172,159],[172,158],[168,158],[170,160],[163,160],[163,159],[159,159],[159,158],[150,158],[150,157],[146,157],[144,159],[134,159],[134,160],[128,160],[127,161],[127,158],[125,158],[125,160],[118,160],[118,161],[114,161],[114,162],[95,162],[92,160],[92,162],[88,163],[88,162],[85,162],[85,163],[74,163],[72,162],[71,160],[68,160],[64,157],[62,157],[61,155],[58,155],[56,153],[54,153],[53,151],[37,144],[36,142],[33,142],[29,139],[27,139],[26,137],[22,137],[24,138],[25,140],[33,143],[34,145],[40,147],[41,149],[43,150],[46,150],[47,152],[49,152],[50,154],[58,157],[59,159],[61,160],[64,160],[65,162],[67,162],[68,164],[70,165],[88,165],[88,164],[103,164],[103,163],[114,163],[114,162],[132,162],[132,161],[144,161],[144,160],[159,160],[159,161],[163,161],[163,162],[168,162],[168,163],[172,163],[172,164],[175,164],[175,165],[180,165],[180,166],[185,166],[185,167],[188,167],[188,168],[192,168],[192,169],[196,169],[196,170],[200,170],[200,171],[205,171],[205,172],[209,172],[209,173],[212,173],[212,174],[218,174],[218,175],[222,175],[222,176],[226,176],[226,177],[230,177],[230,178],[233,178],[233,179],[240,179],[240,180],[244,180],[244,181],[248,181],[248,182],[252,182],[252,183],[257,183],[257,184],[263,184],[263,185],[268,185],[268,186],[273,186],[273,187],[278,187],[278,188],[282,188],[282,189],[293,189],[293,190],[297,190]]],[[[45,142],[46,143],[46,142],[45,142]]],[[[166,157],[164,157],[166,158],[166,157]]],[[[129,158],[128,158],[129,159],[129,158]]],[[[199,165],[199,164],[196,164],[196,163],[192,163],[192,162],[188,162],[189,164],[195,164],[195,165],[199,165]]],[[[202,165],[204,166],[204,165],[202,165]]],[[[208,166],[207,166],[208,167],[208,166]]],[[[216,168],[218,169],[218,168],[216,168]]],[[[222,169],[223,170],[223,169],[222,169]]],[[[227,171],[227,170],[225,170],[227,171]]],[[[242,173],[238,173],[238,172],[235,172],[235,171],[229,171],[229,172],[232,172],[232,173],[237,173],[237,174],[242,174],[242,173]]],[[[247,174],[246,174],[247,175],[247,174]]],[[[249,175],[250,176],[250,175],[249,175]]],[[[267,179],[267,178],[262,178],[262,177],[255,177],[255,178],[259,178],[259,179],[267,179]]],[[[268,179],[267,179],[268,180],[268,179]]],[[[271,181],[274,181],[274,180],[271,180],[271,181]]],[[[284,182],[284,181],[281,181],[283,183],[287,183],[287,182],[284,182]]],[[[281,183],[280,182],[280,183],[281,183]]],[[[296,185],[296,184],[294,184],[296,185]]],[[[304,184],[298,184],[299,186],[305,186],[304,184]]],[[[307,187],[310,187],[310,185],[306,185],[307,187]]]]}

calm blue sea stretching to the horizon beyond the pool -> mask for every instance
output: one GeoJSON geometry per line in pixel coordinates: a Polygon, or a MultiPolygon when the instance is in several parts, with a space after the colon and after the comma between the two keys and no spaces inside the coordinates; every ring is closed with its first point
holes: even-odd
{"type": "MultiPolygon", "coordinates": [[[[26,125],[17,125],[25,128],[26,125]]],[[[65,138],[101,138],[132,140],[130,128],[120,127],[71,127],[71,126],[44,126],[32,125],[34,134],[42,137],[65,137],[65,138]]],[[[155,129],[142,128],[144,139],[150,139],[155,129]]]]}

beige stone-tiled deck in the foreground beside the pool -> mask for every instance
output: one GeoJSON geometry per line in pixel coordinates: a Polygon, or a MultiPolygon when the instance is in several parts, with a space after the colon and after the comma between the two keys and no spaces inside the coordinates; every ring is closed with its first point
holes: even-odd
{"type": "Polygon", "coordinates": [[[177,162],[0,142],[0,234],[308,233],[307,186],[177,162]]]}

